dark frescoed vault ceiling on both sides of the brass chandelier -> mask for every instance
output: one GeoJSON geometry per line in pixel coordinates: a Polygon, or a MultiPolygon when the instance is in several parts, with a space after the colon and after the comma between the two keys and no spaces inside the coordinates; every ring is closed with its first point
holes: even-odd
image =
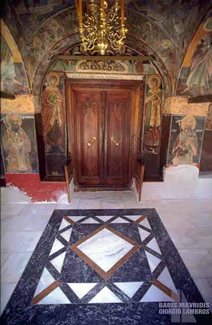
{"type": "MultiPolygon", "coordinates": [[[[166,71],[164,78],[171,78],[169,91],[174,92],[188,47],[212,1],[126,0],[125,4],[128,40],[133,39],[129,46],[134,48],[139,41],[157,56],[158,66],[166,71]]],[[[68,49],[70,39],[70,45],[79,41],[74,0],[8,0],[2,16],[23,57],[31,89],[36,83],[37,92],[38,71],[44,68],[46,73],[50,57],[68,49]]]]}

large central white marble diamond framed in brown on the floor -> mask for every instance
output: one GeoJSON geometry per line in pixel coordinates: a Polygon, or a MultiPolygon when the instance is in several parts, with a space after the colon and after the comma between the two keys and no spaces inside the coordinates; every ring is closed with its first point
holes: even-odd
{"type": "Polygon", "coordinates": [[[105,272],[126,255],[133,245],[108,229],[103,229],[78,248],[105,272]]]}

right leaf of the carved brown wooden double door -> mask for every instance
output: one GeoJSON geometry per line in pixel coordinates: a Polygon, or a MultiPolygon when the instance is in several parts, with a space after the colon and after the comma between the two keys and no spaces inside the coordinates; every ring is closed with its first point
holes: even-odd
{"type": "Polygon", "coordinates": [[[129,183],[130,91],[106,93],[105,181],[106,185],[129,183]]]}

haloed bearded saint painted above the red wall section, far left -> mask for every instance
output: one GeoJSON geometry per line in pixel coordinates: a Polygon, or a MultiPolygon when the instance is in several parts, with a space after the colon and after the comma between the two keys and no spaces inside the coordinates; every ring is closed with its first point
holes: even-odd
{"type": "Polygon", "coordinates": [[[3,148],[7,152],[8,172],[32,171],[29,158],[31,142],[21,124],[22,118],[17,113],[9,113],[5,119],[6,131],[3,137],[3,148]]]}

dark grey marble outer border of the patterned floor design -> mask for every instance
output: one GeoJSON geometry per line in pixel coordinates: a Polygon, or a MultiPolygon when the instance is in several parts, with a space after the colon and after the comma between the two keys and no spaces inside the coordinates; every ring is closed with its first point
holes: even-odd
{"type": "MultiPolygon", "coordinates": [[[[147,215],[176,288],[188,302],[204,302],[155,209],[55,210],[3,312],[3,325],[171,324],[170,315],[159,314],[158,303],[31,305],[63,216],[96,214],[147,215]]],[[[198,324],[211,323],[211,314],[195,317],[198,324]]]]}

